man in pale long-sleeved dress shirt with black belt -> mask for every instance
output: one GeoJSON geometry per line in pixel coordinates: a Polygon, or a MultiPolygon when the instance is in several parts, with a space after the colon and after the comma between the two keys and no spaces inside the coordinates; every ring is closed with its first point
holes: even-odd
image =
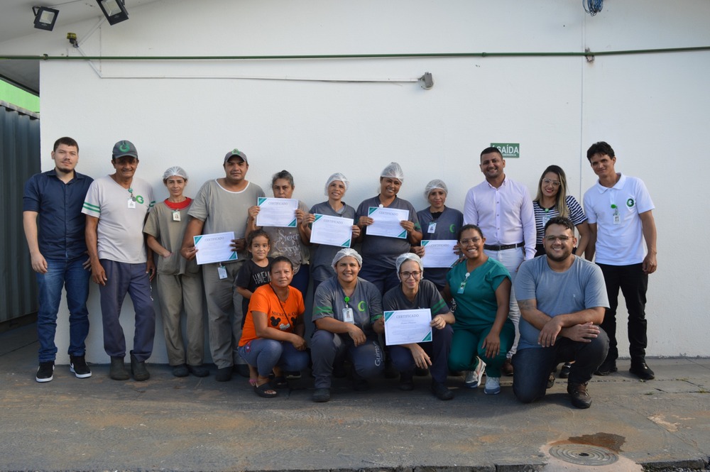
{"type": "MultiPolygon", "coordinates": [[[[464,224],[475,224],[486,238],[484,252],[508,269],[515,285],[515,274],[523,260],[535,257],[535,212],[527,187],[506,177],[506,160],[498,148],[481,151],[481,172],[486,180],[471,188],[464,202],[464,224]]],[[[510,290],[510,320],[515,324],[515,344],[508,356],[518,348],[520,308],[515,290],[510,290]]],[[[510,357],[503,373],[513,374],[510,357]]]]}

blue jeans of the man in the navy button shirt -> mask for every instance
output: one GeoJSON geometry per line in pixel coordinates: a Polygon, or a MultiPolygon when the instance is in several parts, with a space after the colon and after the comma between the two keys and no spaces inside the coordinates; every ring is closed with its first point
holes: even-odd
{"type": "Polygon", "coordinates": [[[37,274],[39,311],[37,312],[37,337],[40,341],[39,361],[50,362],[57,357],[54,336],[57,331],[57,313],[62,299],[62,288],[67,289],[69,308],[69,355],[84,356],[84,341],[89,334],[89,277],[91,273],[82,264],[87,258],[46,259],[47,273],[37,274]]]}

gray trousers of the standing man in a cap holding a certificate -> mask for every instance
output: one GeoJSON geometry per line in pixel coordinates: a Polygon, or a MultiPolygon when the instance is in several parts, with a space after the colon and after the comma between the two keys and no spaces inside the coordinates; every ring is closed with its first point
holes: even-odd
{"type": "Polygon", "coordinates": [[[234,278],[244,260],[224,264],[226,278],[219,279],[218,264],[202,266],[204,295],[207,297],[209,352],[217,368],[244,363],[236,351],[241,338],[241,295],[234,290],[234,278]]]}

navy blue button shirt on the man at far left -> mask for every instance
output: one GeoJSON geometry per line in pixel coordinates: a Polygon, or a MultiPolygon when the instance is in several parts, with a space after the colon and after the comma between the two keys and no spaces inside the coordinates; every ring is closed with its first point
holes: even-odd
{"type": "Polygon", "coordinates": [[[35,174],[25,183],[23,212],[37,212],[37,240],[42,256],[73,259],[86,256],[86,217],[82,206],[94,179],[74,172],[65,184],[54,169],[35,174]]]}

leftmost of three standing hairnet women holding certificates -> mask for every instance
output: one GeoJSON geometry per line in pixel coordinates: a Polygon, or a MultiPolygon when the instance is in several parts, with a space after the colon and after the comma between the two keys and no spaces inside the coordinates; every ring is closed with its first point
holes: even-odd
{"type": "MultiPolygon", "coordinates": [[[[317,203],[310,209],[310,213],[303,219],[305,225],[305,236],[310,241],[311,224],[315,221],[316,214],[327,216],[337,216],[340,218],[355,219],[355,209],[349,204],[343,202],[345,192],[348,190],[350,182],[340,172],[336,172],[328,177],[325,182],[325,196],[327,201],[317,203]]],[[[352,225],[351,240],[360,236],[360,228],[357,225],[352,225]]],[[[328,246],[326,244],[312,244],[311,252],[311,276],[313,278],[313,292],[325,280],[333,277],[335,271],[332,267],[332,261],[335,254],[339,251],[339,246],[328,246]]]]}

